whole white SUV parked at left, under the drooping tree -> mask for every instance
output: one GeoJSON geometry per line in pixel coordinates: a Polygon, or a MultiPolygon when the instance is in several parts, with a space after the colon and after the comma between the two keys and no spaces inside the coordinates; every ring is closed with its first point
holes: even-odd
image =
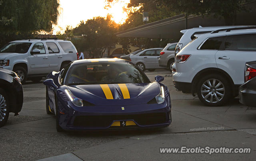
{"type": "Polygon", "coordinates": [[[38,82],[77,58],[76,47],[65,40],[18,40],[0,48],[0,68],[17,73],[22,83],[27,79],[38,82]]]}

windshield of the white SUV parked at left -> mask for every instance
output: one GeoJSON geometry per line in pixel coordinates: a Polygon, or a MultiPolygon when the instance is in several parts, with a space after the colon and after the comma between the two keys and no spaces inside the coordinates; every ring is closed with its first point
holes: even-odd
{"type": "Polygon", "coordinates": [[[0,49],[0,53],[26,53],[32,43],[7,43],[0,49]]]}

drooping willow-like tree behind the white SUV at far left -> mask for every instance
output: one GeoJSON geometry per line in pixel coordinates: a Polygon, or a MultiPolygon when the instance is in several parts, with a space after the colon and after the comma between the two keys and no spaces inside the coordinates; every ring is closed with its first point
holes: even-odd
{"type": "Polygon", "coordinates": [[[33,33],[52,31],[58,20],[58,0],[0,0],[0,44],[33,33]]]}

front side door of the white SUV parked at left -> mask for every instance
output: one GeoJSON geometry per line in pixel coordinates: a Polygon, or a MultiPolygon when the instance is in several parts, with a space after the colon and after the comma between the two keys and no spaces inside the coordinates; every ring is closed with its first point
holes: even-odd
{"type": "Polygon", "coordinates": [[[38,42],[35,43],[28,53],[28,59],[30,64],[30,73],[29,74],[45,74],[49,73],[49,57],[46,53],[44,43],[38,42]],[[33,54],[34,49],[39,49],[40,54],[33,54]]]}

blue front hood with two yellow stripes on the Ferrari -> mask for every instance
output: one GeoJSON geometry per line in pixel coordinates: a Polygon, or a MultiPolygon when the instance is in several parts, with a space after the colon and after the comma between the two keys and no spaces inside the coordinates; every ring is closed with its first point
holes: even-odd
{"type": "Polygon", "coordinates": [[[68,88],[74,96],[102,106],[145,104],[160,93],[158,82],[72,85],[68,88]]]}

